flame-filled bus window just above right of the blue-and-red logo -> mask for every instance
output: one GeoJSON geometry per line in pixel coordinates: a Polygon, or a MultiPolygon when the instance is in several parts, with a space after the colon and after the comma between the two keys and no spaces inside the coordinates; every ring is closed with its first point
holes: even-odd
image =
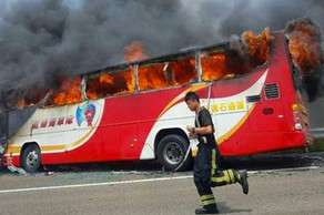
{"type": "Polygon", "coordinates": [[[95,100],[109,95],[134,92],[134,75],[132,70],[118,72],[102,71],[87,78],[87,98],[95,100]]]}

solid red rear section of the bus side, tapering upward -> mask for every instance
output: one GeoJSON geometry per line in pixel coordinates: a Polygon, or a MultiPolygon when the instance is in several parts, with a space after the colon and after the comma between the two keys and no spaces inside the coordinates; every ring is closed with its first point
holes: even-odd
{"type": "Polygon", "coordinates": [[[275,83],[279,86],[279,96],[269,99],[263,89],[261,101],[254,103],[255,108],[246,123],[221,144],[222,154],[250,155],[304,146],[306,134],[294,131],[292,105],[296,92],[284,45],[284,37],[276,37],[264,83],[275,83]]]}

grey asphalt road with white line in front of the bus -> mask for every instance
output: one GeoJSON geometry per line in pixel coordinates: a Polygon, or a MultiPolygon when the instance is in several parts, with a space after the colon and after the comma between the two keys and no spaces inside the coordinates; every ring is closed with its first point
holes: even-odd
{"type": "MultiPolygon", "coordinates": [[[[239,185],[214,188],[220,212],[324,214],[324,155],[297,157],[302,165],[287,166],[280,162],[284,157],[275,166],[251,170],[247,196],[239,185]]],[[[142,167],[62,171],[50,176],[7,173],[0,176],[0,214],[194,214],[200,205],[191,174],[142,167]]]]}

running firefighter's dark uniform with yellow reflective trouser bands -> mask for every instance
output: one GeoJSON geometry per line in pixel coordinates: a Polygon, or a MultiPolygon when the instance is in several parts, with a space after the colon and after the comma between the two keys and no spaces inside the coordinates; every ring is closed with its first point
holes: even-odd
{"type": "MultiPolygon", "coordinates": [[[[202,127],[209,125],[212,125],[214,131],[211,114],[205,108],[201,108],[196,114],[195,126],[202,127]]],[[[220,153],[214,134],[198,135],[198,153],[194,158],[193,167],[194,184],[203,208],[216,211],[215,197],[211,187],[237,182],[241,184],[241,175],[234,170],[221,170],[220,153]]]]}

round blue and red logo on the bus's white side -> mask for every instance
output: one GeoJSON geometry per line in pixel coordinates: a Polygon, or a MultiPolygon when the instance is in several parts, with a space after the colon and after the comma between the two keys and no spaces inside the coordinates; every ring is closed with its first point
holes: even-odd
{"type": "Polygon", "coordinates": [[[95,115],[94,104],[87,102],[82,105],[79,105],[75,113],[78,125],[81,126],[83,123],[87,123],[88,126],[92,126],[94,115],[95,115]]]}

